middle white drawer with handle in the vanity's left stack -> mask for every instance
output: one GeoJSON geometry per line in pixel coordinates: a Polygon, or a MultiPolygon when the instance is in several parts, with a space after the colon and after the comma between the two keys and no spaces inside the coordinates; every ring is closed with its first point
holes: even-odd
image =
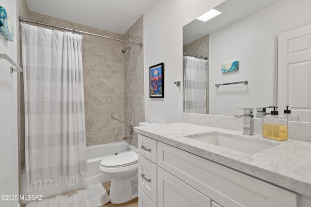
{"type": "Polygon", "coordinates": [[[138,155],[138,187],[156,204],[156,165],[138,155]]]}

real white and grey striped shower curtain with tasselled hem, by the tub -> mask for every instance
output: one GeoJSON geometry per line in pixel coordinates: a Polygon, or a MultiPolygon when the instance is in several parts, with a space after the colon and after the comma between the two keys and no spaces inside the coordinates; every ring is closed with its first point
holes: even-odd
{"type": "Polygon", "coordinates": [[[28,188],[86,174],[82,36],[21,23],[28,188]]]}

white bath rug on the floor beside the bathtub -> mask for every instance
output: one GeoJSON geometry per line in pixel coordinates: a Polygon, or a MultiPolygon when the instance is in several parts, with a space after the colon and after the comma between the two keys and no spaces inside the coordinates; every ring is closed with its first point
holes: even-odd
{"type": "Polygon", "coordinates": [[[102,183],[28,203],[26,207],[100,207],[110,201],[102,183]]]}

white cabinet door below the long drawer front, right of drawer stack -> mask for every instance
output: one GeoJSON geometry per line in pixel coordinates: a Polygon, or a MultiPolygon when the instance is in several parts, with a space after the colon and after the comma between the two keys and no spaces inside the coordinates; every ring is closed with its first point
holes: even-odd
{"type": "Polygon", "coordinates": [[[211,200],[165,170],[157,167],[158,207],[210,207],[211,200]]]}

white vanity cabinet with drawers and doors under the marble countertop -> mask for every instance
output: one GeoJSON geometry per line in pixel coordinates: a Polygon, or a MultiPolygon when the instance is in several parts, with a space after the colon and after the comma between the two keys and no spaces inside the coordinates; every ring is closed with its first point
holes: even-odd
{"type": "Polygon", "coordinates": [[[295,192],[138,135],[138,148],[146,142],[152,143],[147,151],[156,149],[152,154],[157,158],[146,159],[143,151],[138,159],[139,207],[298,207],[303,203],[295,192]],[[141,177],[140,172],[148,171],[144,168],[152,168],[156,177],[145,174],[155,187],[141,177]]]}

